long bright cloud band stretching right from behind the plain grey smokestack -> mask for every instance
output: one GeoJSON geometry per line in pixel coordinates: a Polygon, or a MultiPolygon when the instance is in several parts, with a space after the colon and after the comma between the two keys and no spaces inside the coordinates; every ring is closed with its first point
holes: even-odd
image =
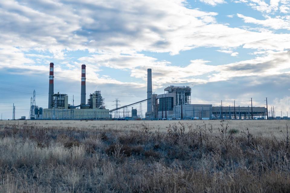
{"type": "MultiPolygon", "coordinates": [[[[146,69],[152,68],[156,86],[175,84],[206,84],[237,77],[269,77],[285,74],[289,69],[290,51],[268,50],[263,56],[224,65],[210,65],[210,61],[192,60],[188,66],[172,66],[170,63],[152,63],[131,70],[131,76],[146,80],[146,69]],[[152,66],[151,66],[152,65],[152,66]]],[[[290,72],[289,72],[290,73],[290,72]]],[[[252,82],[252,84],[259,84],[252,82]]]]}

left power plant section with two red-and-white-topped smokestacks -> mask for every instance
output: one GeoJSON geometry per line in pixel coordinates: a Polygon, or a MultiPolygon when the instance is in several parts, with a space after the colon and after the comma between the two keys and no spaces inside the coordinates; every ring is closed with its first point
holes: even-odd
{"type": "Polygon", "coordinates": [[[33,108],[31,119],[43,120],[108,120],[109,110],[105,108],[104,99],[100,91],[90,94],[86,103],[85,65],[81,68],[81,103],[74,106],[68,103],[68,95],[54,94],[53,91],[53,63],[50,63],[48,108],[33,108]]]}

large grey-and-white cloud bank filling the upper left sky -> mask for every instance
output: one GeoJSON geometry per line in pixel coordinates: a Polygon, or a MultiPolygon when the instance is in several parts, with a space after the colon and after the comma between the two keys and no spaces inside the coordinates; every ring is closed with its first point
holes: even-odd
{"type": "MultiPolygon", "coordinates": [[[[220,1],[221,2],[221,1],[220,1]]],[[[279,34],[219,24],[218,13],[189,9],[185,1],[2,1],[0,47],[48,51],[66,59],[67,51],[171,55],[196,47],[237,47],[279,34]],[[98,14],[95,14],[95,13],[98,14]],[[214,29],[214,30],[213,30],[214,29]]],[[[284,48],[281,48],[284,49],[284,48]]]]}

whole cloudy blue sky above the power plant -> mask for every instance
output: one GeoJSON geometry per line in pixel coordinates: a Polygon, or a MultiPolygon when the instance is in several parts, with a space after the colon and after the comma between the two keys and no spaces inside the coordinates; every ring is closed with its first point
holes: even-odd
{"type": "MultiPolygon", "coordinates": [[[[192,88],[192,104],[275,106],[290,112],[290,0],[0,1],[0,114],[47,108],[54,92],[80,103],[101,90],[106,108],[169,85],[192,88]]],[[[139,108],[139,107],[137,107],[139,108]]],[[[146,105],[143,104],[145,112],[146,105]]]]}

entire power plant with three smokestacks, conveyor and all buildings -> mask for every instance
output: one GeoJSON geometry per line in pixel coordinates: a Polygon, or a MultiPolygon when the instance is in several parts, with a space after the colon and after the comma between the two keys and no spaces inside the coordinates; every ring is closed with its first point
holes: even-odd
{"type": "Polygon", "coordinates": [[[209,119],[268,119],[265,107],[213,107],[211,104],[191,104],[192,89],[189,86],[170,85],[164,94],[152,92],[152,69],[147,69],[147,98],[129,105],[109,110],[105,107],[101,91],[97,90],[86,99],[85,72],[81,66],[81,101],[79,105],[68,103],[68,95],[54,93],[54,63],[50,63],[48,107],[38,108],[31,98],[30,119],[37,120],[209,120],[209,119]],[[142,116],[142,103],[147,102],[147,112],[142,116]],[[139,112],[133,106],[139,105],[139,112]],[[128,108],[132,107],[129,113],[128,108]],[[122,111],[119,111],[123,109],[122,111]],[[115,113],[115,116],[112,114],[115,113]]]}

